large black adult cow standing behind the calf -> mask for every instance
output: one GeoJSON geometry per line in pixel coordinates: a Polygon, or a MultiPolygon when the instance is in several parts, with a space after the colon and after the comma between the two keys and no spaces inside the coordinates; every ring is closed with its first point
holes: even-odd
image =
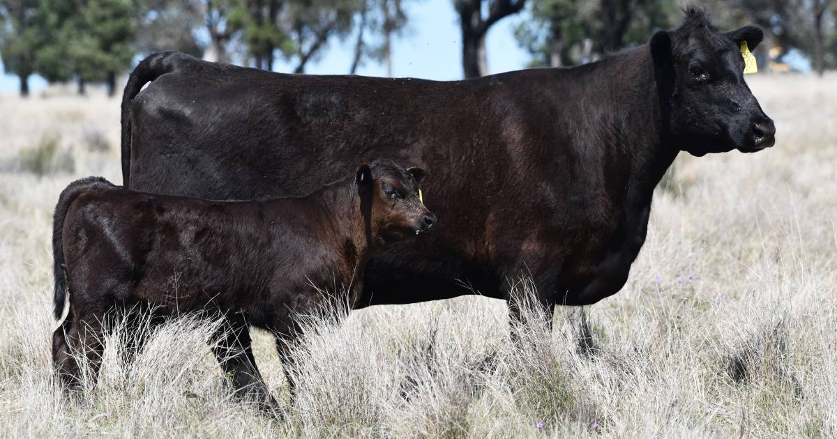
{"type": "Polygon", "coordinates": [[[393,156],[433,173],[424,195],[443,227],[373,257],[359,306],[509,299],[522,274],[547,309],[593,304],[628,278],[654,188],[680,151],[773,145],[742,77],[741,43],[762,37],[719,32],[689,9],[680,28],[592,64],[451,82],[155,54],[126,85],[123,177],[166,194],[288,196],[393,156]]]}

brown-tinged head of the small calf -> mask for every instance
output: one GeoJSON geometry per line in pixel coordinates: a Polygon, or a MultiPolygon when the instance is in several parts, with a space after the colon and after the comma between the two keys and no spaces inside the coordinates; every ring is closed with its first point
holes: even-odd
{"type": "Polygon", "coordinates": [[[436,216],[419,197],[419,182],[423,178],[421,168],[404,169],[388,160],[379,159],[357,168],[357,190],[373,239],[392,242],[434,231],[436,216]]]}

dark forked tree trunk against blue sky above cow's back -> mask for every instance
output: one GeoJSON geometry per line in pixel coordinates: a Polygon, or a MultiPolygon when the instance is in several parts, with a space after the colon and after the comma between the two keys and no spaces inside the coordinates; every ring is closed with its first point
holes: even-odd
{"type": "Polygon", "coordinates": [[[488,73],[486,33],[501,19],[519,13],[525,5],[526,0],[454,0],[454,8],[460,18],[465,78],[476,78],[488,73]],[[484,5],[488,10],[486,17],[482,13],[484,5]]]}

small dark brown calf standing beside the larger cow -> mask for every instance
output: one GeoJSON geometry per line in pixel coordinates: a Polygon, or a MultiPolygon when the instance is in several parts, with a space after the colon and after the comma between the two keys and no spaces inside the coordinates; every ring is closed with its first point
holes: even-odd
{"type": "Polygon", "coordinates": [[[53,334],[60,380],[79,384],[74,351],[87,355],[95,377],[111,310],[150,305],[157,315],[226,315],[215,355],[236,389],[275,406],[245,322],[275,334],[287,370],[296,314],[353,307],[372,254],[434,229],[436,218],[419,199],[422,176],[419,168],[375,161],[306,197],[264,202],[153,195],[100,177],[71,183],[53,232],[56,319],[69,290],[69,313],[53,334]]]}

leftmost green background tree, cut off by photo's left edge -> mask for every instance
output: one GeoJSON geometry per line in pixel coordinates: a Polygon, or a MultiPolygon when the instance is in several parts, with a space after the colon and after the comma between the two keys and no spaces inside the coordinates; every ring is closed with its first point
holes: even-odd
{"type": "Polygon", "coordinates": [[[4,0],[0,4],[0,43],[3,69],[18,75],[20,95],[28,96],[35,52],[41,44],[36,0],[4,0]]]}

